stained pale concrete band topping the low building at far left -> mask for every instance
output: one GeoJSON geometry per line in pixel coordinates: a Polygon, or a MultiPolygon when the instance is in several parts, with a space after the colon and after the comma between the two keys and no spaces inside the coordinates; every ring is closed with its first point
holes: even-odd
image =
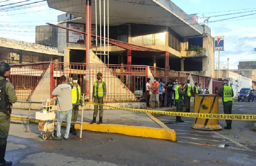
{"type": "Polygon", "coordinates": [[[43,53],[43,54],[62,55],[58,53],[58,50],[55,47],[44,46],[44,45],[35,44],[35,43],[22,42],[22,41],[12,40],[8,38],[0,38],[0,47],[20,49],[24,51],[31,51],[31,52],[43,53]]]}

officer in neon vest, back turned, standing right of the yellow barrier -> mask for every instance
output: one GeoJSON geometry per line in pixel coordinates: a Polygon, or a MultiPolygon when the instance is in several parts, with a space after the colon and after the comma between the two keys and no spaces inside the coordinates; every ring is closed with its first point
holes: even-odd
{"type": "MultiPolygon", "coordinates": [[[[224,80],[223,81],[223,87],[221,87],[220,90],[218,90],[217,93],[218,96],[222,96],[222,102],[223,102],[223,110],[224,114],[232,114],[232,105],[233,105],[233,98],[234,97],[234,92],[231,86],[228,85],[228,81],[224,80]]],[[[224,129],[230,130],[232,120],[226,120],[227,126],[224,127],[224,129]]]]}

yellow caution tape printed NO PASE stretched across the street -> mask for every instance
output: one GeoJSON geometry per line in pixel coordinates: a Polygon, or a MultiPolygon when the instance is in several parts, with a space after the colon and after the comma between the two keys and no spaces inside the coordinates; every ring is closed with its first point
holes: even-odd
{"type": "Polygon", "coordinates": [[[171,116],[179,116],[179,117],[256,121],[256,115],[248,115],[248,114],[208,114],[208,113],[170,112],[170,111],[157,111],[157,110],[114,107],[114,106],[109,106],[107,104],[98,104],[98,103],[94,103],[94,102],[85,102],[85,103],[93,104],[93,105],[97,105],[97,106],[105,106],[105,107],[110,107],[110,108],[115,108],[115,109],[120,109],[120,110],[155,113],[155,114],[171,115],[171,116]]]}

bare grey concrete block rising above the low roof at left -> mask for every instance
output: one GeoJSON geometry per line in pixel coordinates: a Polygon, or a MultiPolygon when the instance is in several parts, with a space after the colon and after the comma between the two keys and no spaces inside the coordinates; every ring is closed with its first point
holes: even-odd
{"type": "Polygon", "coordinates": [[[58,27],[51,25],[36,26],[35,43],[46,46],[58,47],[58,27]]]}

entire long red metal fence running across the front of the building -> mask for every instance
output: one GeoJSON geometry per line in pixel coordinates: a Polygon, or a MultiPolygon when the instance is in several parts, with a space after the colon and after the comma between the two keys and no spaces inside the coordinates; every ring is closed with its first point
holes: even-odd
{"type": "MultiPolygon", "coordinates": [[[[48,79],[47,82],[50,83],[50,91],[52,91],[60,84],[60,76],[65,75],[69,83],[72,81],[72,76],[76,74],[84,99],[90,101],[93,84],[97,80],[96,75],[101,72],[107,85],[108,102],[145,101],[146,81],[150,71],[154,77],[167,81],[178,79],[186,82],[190,75],[180,71],[138,65],[44,62],[11,65],[11,79],[18,99],[28,100],[41,79],[48,79]],[[43,77],[46,71],[47,77],[43,77]]],[[[198,75],[192,75],[192,78],[194,82],[201,83],[202,87],[209,87],[211,78],[198,75]]],[[[214,81],[213,87],[219,88],[222,85],[218,82],[220,81],[214,81]]]]}

